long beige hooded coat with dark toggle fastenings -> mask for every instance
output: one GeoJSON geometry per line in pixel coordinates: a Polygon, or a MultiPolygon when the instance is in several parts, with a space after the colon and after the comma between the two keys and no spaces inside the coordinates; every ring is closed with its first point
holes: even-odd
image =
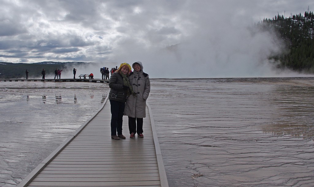
{"type": "MultiPolygon", "coordinates": [[[[143,65],[140,63],[141,69],[143,65]]],[[[134,67],[133,67],[134,68],[134,67]]],[[[136,96],[130,95],[127,98],[127,102],[124,108],[124,115],[132,118],[145,118],[146,117],[146,99],[150,92],[150,81],[149,76],[140,72],[132,72],[129,76],[130,84],[136,96]]]]}

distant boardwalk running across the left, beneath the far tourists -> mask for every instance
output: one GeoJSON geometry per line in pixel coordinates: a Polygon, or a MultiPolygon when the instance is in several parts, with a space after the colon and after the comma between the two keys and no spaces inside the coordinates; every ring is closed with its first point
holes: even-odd
{"type": "Polygon", "coordinates": [[[109,83],[109,80],[97,78],[46,78],[46,79],[0,79],[0,82],[18,82],[18,81],[46,81],[46,82],[100,82],[109,83]]]}

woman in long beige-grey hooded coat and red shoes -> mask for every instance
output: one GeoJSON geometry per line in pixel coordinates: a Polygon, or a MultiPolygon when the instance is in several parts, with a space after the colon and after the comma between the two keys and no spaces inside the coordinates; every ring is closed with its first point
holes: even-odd
{"type": "Polygon", "coordinates": [[[124,115],[129,118],[130,138],[138,134],[143,138],[143,118],[146,117],[146,99],[150,92],[150,81],[148,74],[143,72],[143,64],[135,62],[132,64],[133,72],[129,75],[130,84],[136,95],[130,95],[124,108],[124,115]]]}

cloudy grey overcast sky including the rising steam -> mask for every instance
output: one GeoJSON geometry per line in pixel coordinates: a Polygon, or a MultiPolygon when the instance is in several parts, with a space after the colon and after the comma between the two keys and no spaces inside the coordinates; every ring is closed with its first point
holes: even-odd
{"type": "Polygon", "coordinates": [[[281,53],[280,42],[248,27],[278,12],[313,11],[314,1],[0,0],[0,6],[1,62],[141,61],[155,78],[205,78],[283,76],[267,60],[281,53]]]}

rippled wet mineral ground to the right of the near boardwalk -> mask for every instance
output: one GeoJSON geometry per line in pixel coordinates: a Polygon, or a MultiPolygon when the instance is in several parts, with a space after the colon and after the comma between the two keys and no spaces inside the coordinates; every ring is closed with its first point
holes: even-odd
{"type": "Polygon", "coordinates": [[[170,186],[313,186],[313,78],[154,79],[170,186]]]}

